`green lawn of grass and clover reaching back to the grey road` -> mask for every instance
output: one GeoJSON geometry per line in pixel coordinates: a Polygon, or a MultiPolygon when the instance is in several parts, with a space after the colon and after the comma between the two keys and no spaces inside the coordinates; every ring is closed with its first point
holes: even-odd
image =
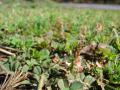
{"type": "MultiPolygon", "coordinates": [[[[52,55],[57,54],[61,60],[64,60],[66,57],[62,54],[65,53],[68,62],[73,62],[79,41],[84,42],[80,43],[83,47],[94,41],[115,49],[110,52],[104,50],[103,57],[100,56],[100,59],[106,57],[109,59],[112,67],[109,69],[106,66],[103,71],[109,73],[107,79],[110,82],[118,83],[120,72],[115,74],[117,76],[111,73],[120,67],[120,62],[115,61],[120,50],[119,21],[120,11],[68,9],[51,2],[3,4],[0,6],[0,44],[21,51],[16,57],[5,60],[7,63],[9,61],[11,67],[16,65],[15,62],[18,66],[13,69],[8,68],[8,65],[7,68],[9,71],[15,71],[17,67],[23,67],[23,71],[33,73],[34,78],[39,82],[39,77],[43,73],[51,75],[52,70],[57,72],[55,70],[58,68],[53,67],[54,63],[51,62],[52,55]]],[[[98,77],[100,72],[99,68],[95,70],[98,77]]],[[[56,80],[57,77],[52,78],[56,80]]],[[[49,85],[50,82],[54,82],[51,80],[48,80],[49,85]]]]}

